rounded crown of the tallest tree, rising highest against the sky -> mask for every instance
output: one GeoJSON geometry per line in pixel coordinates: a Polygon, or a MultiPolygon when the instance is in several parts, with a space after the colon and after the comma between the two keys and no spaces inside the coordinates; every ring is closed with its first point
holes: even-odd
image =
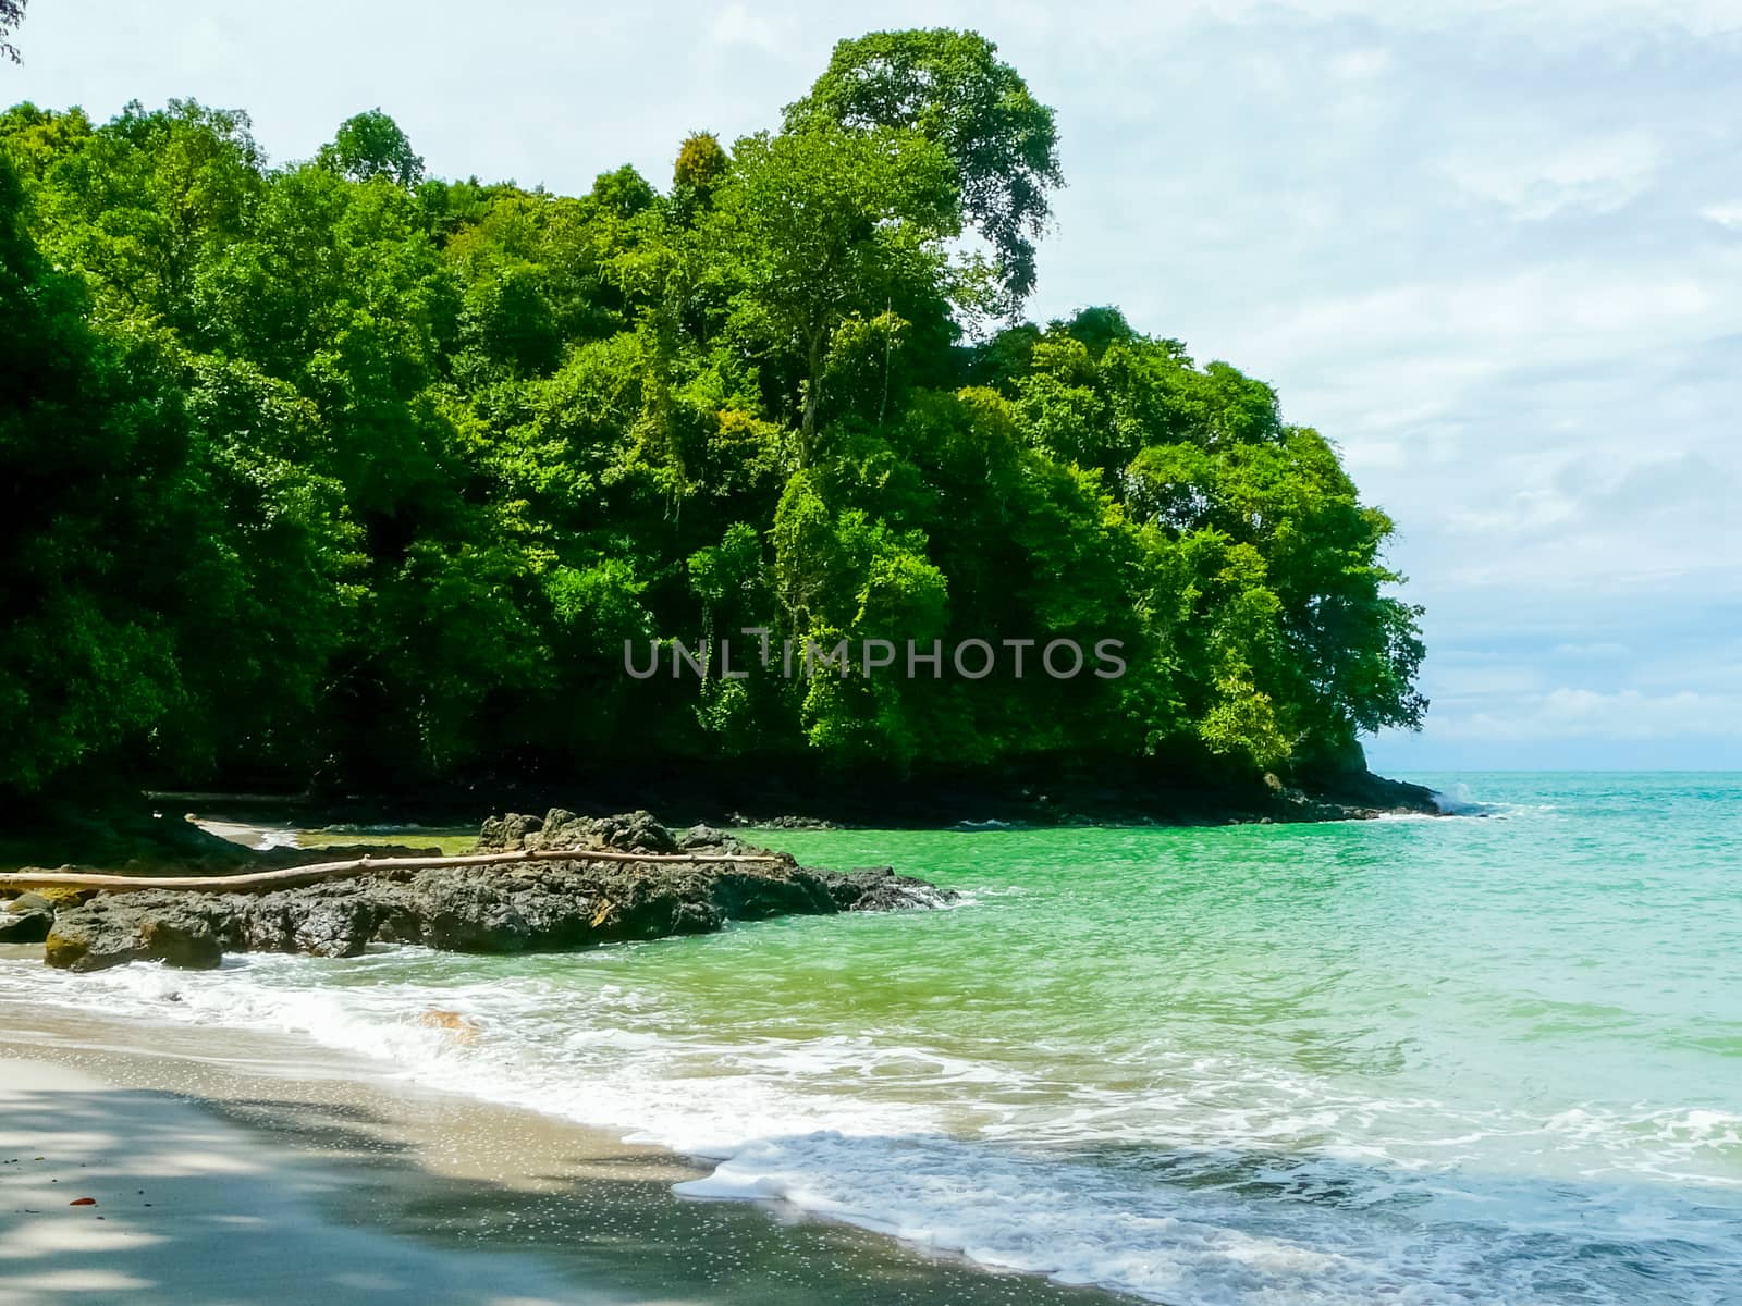
{"type": "Polygon", "coordinates": [[[834,47],[810,94],[786,110],[787,131],[909,129],[949,153],[969,221],[991,244],[1016,315],[1035,289],[1035,237],[1063,185],[1052,110],[977,31],[873,31],[834,47]]]}

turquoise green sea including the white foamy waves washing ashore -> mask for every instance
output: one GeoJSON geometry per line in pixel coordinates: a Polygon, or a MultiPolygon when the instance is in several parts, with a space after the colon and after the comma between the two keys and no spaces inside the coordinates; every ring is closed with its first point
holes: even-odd
{"type": "Polygon", "coordinates": [[[0,994],[298,1033],[1172,1306],[1742,1303],[1742,775],[1411,778],[1462,815],[779,832],[963,902],[0,994]]]}

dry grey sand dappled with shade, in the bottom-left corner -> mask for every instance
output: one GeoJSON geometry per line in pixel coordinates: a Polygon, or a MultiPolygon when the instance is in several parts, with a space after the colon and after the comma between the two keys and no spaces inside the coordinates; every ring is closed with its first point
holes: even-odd
{"type": "Polygon", "coordinates": [[[14,1057],[0,1083],[0,1303],[575,1299],[524,1257],[341,1224],[334,1175],[172,1094],[14,1057]]]}

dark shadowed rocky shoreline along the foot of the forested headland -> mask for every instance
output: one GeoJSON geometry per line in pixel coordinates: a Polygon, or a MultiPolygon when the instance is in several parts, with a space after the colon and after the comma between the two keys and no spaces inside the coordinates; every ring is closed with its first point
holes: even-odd
{"type": "MultiPolygon", "coordinates": [[[[392,852],[434,852],[456,831],[476,831],[502,813],[571,811],[613,817],[652,810],[672,829],[1049,829],[1049,827],[1216,827],[1373,820],[1387,815],[1453,815],[1434,791],[1364,768],[1284,782],[1146,770],[1127,773],[1108,763],[1071,773],[890,777],[887,773],[706,771],[627,768],[606,778],[561,782],[517,777],[476,784],[436,784],[418,791],[312,794],[213,792],[73,787],[28,803],[0,792],[0,871],[291,865],[307,848],[267,841],[244,846],[230,832],[293,824],[334,838],[334,852],[369,852],[378,829],[408,843],[392,852]],[[488,799],[483,798],[488,794],[488,799]],[[347,836],[364,836],[352,843],[347,836]]],[[[442,846],[442,852],[453,848],[442,846]]],[[[388,848],[375,848],[385,855],[388,848]]]]}

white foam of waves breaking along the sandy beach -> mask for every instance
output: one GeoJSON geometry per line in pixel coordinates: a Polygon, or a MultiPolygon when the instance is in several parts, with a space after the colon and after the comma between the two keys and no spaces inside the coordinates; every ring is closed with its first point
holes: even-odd
{"type": "MultiPolygon", "coordinates": [[[[301,1034],[388,1076],[716,1160],[709,1177],[681,1186],[688,1196],[773,1198],[1171,1306],[1556,1299],[1533,1278],[1545,1240],[1566,1243],[1556,1273],[1571,1285],[1568,1301],[1629,1301],[1580,1249],[1617,1231],[1705,1236],[1704,1217],[1674,1191],[1637,1181],[1733,1149],[1742,1128],[1714,1109],[1458,1111],[1164,1045],[1125,1054],[1150,1073],[1115,1090],[1061,1088],[1038,1071],[890,1034],[723,1040],[664,1010],[657,989],[601,980],[587,956],[510,975],[418,949],[239,958],[219,973],[0,963],[0,996],[301,1034]],[[430,1008],[476,1020],[481,1038],[462,1043],[420,1024],[430,1008]],[[1439,1128],[1411,1132],[1411,1121],[1439,1128]],[[1610,1188],[1592,1189],[1577,1217],[1505,1233],[1493,1208],[1521,1208],[1519,1184],[1540,1195],[1528,1179],[1462,1179],[1460,1165],[1495,1139],[1524,1153],[1533,1141],[1571,1144],[1610,1188]]],[[[1721,1301],[1697,1282],[1678,1290],[1688,1303],[1721,1301]]]]}

